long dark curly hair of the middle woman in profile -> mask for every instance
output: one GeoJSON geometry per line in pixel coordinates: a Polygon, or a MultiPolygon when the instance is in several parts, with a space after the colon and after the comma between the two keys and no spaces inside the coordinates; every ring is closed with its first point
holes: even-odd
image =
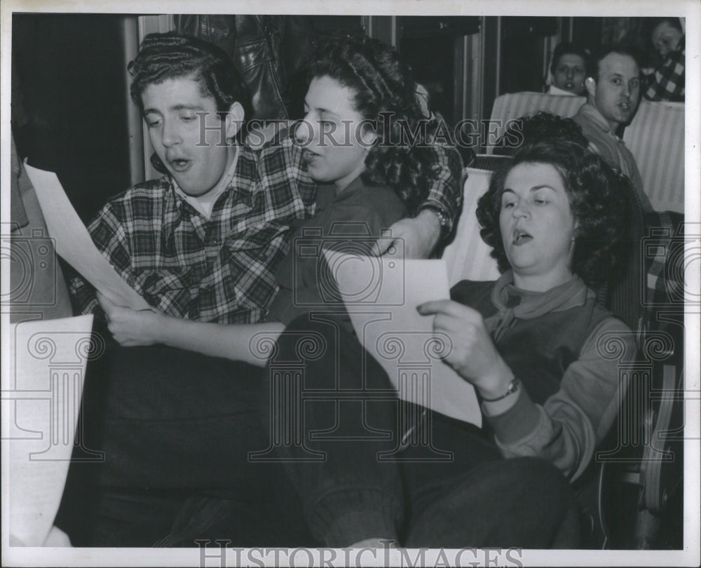
{"type": "Polygon", "coordinates": [[[414,215],[428,196],[426,139],[432,130],[424,128],[428,122],[416,98],[411,68],[395,48],[367,36],[343,34],[317,41],[309,78],[323,76],[353,90],[355,110],[371,121],[376,133],[362,180],[392,187],[414,215]]]}

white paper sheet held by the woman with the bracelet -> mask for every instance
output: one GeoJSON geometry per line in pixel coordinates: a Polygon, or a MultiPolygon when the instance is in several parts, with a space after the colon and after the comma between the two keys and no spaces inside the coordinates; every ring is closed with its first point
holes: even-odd
{"type": "Polygon", "coordinates": [[[441,360],[442,338],[435,339],[433,316],[416,311],[418,304],[450,297],[445,262],[332,250],[325,256],[355,333],[400,398],[481,426],[474,387],[441,360]]]}

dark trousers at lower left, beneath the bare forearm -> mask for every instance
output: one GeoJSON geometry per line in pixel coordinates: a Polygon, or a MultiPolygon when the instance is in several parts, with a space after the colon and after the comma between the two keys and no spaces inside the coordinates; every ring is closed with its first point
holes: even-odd
{"type": "Polygon", "coordinates": [[[72,464],[57,524],[82,546],[308,543],[280,464],[248,459],[270,445],[263,372],[108,340],[88,366],[81,417],[82,444],[104,459],[72,464]]]}

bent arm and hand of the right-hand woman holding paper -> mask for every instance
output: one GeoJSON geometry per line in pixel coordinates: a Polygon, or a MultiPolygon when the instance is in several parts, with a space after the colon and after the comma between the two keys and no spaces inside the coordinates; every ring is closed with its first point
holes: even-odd
{"type": "Polygon", "coordinates": [[[518,370],[498,354],[477,311],[451,300],[427,302],[418,311],[435,314],[434,330],[451,337],[444,360],[479,391],[482,414],[504,456],[538,456],[567,478],[577,478],[611,428],[626,386],[618,377],[618,360],[602,357],[597,343],[613,333],[632,358],[635,344],[628,327],[615,318],[599,324],[565,371],[559,391],[541,406],[515,383],[518,370]]]}

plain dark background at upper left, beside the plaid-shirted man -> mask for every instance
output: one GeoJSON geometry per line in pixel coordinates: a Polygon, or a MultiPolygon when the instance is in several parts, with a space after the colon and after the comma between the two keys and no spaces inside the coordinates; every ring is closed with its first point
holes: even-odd
{"type": "Polygon", "coordinates": [[[13,15],[15,141],[57,173],[83,221],[129,185],[124,18],[13,15]]]}

